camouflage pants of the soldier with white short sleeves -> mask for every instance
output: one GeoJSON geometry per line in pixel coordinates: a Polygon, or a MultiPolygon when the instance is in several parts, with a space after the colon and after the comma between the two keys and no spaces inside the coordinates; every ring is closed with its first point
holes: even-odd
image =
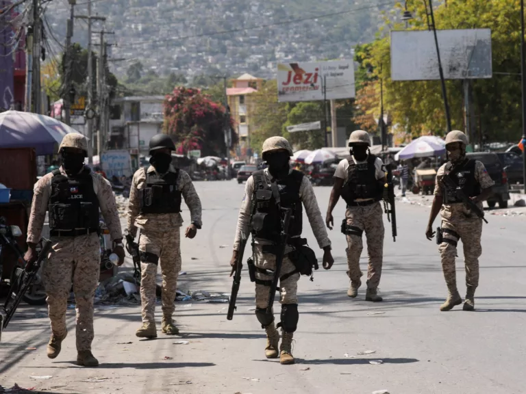
{"type": "MultiPolygon", "coordinates": [[[[381,264],[384,258],[384,220],[379,203],[365,207],[347,207],[345,218],[348,226],[355,226],[364,231],[367,239],[369,264],[367,272],[367,287],[376,289],[380,283],[381,264]]],[[[347,265],[349,278],[358,282],[363,275],[360,270],[360,255],[363,250],[362,237],[347,235],[347,265]]]]}

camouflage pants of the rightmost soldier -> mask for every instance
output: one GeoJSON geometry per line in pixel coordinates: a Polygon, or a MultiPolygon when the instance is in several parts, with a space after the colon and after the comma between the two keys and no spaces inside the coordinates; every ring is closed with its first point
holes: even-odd
{"type": "MultiPolygon", "coordinates": [[[[466,266],[466,285],[477,287],[479,285],[479,257],[482,254],[482,246],[480,244],[482,220],[476,218],[452,221],[442,218],[442,228],[455,231],[462,239],[466,266]]],[[[444,239],[460,241],[460,239],[450,233],[444,233],[444,239]]],[[[442,242],[438,250],[440,250],[440,257],[442,257],[442,271],[444,272],[446,285],[448,289],[456,290],[455,257],[457,255],[457,247],[447,244],[447,242],[442,242]]]]}

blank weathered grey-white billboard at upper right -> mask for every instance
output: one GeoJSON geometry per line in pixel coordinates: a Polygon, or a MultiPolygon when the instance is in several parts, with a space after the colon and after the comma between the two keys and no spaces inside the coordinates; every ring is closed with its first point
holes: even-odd
{"type": "MultiPolygon", "coordinates": [[[[491,78],[491,30],[438,30],[445,79],[491,78]]],[[[433,31],[391,31],[392,81],[440,79],[433,31]]]]}

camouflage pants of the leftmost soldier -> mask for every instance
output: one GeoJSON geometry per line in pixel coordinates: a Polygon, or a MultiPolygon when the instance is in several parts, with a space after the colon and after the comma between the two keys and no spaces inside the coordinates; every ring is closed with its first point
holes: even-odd
{"type": "Polygon", "coordinates": [[[65,337],[66,310],[73,283],[77,304],[77,350],[91,350],[93,341],[93,297],[99,283],[101,252],[99,236],[53,238],[53,252],[42,267],[51,331],[65,337]]]}

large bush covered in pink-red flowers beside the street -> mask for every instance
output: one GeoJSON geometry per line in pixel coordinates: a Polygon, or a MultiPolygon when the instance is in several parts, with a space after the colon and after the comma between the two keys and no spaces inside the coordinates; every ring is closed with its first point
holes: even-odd
{"type": "MultiPolygon", "coordinates": [[[[223,157],[226,151],[224,122],[225,108],[199,89],[177,86],[164,99],[164,132],[174,137],[177,153],[201,149],[203,157],[223,157]]],[[[233,127],[230,119],[230,128],[233,127]]],[[[231,140],[232,146],[237,144],[236,133],[231,133],[231,140]]]]}

